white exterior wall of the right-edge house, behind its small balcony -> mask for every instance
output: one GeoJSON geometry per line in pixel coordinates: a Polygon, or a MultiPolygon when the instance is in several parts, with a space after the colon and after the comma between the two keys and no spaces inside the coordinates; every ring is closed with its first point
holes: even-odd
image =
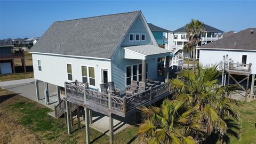
{"type": "Polygon", "coordinates": [[[247,55],[246,63],[252,63],[252,74],[256,74],[256,51],[200,49],[199,63],[202,65],[218,64],[223,59],[223,55],[226,54],[228,54],[228,57],[235,63],[242,63],[242,55],[247,55]]]}

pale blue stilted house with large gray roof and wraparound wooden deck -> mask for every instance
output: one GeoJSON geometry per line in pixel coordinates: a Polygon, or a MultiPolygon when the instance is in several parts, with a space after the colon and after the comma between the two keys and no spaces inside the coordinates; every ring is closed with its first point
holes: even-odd
{"type": "Polygon", "coordinates": [[[158,81],[157,59],[165,58],[169,71],[170,52],[158,46],[141,11],[54,22],[30,49],[37,99],[38,81],[45,82],[46,100],[47,84],[56,85],[55,114],[66,113],[68,132],[70,105],[77,105],[85,111],[86,133],[90,111],[109,116],[112,142],[113,115],[127,117],[169,95],[169,73],[158,81]]]}

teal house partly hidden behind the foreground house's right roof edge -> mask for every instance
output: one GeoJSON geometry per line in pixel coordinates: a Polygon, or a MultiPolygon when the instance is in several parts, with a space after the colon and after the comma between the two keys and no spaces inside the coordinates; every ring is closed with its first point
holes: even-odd
{"type": "Polygon", "coordinates": [[[170,30],[157,27],[153,25],[152,23],[148,23],[148,26],[150,30],[152,31],[156,42],[160,47],[164,47],[166,50],[171,50],[172,51],[172,41],[173,41],[173,33],[170,30]],[[170,45],[171,43],[171,45],[170,45]]]}

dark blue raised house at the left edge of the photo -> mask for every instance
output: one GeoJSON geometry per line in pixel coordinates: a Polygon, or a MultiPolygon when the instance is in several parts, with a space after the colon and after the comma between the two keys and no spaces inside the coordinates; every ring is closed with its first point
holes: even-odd
{"type": "Polygon", "coordinates": [[[21,59],[26,73],[24,53],[13,53],[13,45],[0,41],[0,74],[15,74],[14,59],[21,59]]]}

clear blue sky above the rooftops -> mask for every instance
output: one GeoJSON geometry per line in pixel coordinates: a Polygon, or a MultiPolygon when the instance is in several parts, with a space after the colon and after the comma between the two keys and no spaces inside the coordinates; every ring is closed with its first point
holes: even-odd
{"type": "Polygon", "coordinates": [[[41,36],[54,21],[141,10],[169,30],[198,19],[221,29],[256,27],[256,1],[2,1],[0,38],[41,36]]]}

